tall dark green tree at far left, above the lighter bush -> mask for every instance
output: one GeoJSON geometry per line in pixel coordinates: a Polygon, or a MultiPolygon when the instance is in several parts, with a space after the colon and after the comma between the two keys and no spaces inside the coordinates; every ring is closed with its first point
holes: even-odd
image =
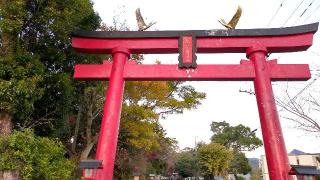
{"type": "Polygon", "coordinates": [[[0,110],[37,134],[65,135],[73,65],[92,59],[73,52],[70,34],[95,30],[100,17],[90,0],[1,0],[0,17],[0,110]]]}

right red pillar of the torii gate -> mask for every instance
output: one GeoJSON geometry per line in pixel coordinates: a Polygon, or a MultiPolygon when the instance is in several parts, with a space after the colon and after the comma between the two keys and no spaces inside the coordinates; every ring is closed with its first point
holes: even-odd
{"type": "Polygon", "coordinates": [[[270,179],[291,179],[290,164],[282,135],[278,111],[272,91],[270,70],[266,61],[265,47],[248,48],[247,56],[253,62],[256,77],[254,89],[260,116],[264,149],[270,179]]]}

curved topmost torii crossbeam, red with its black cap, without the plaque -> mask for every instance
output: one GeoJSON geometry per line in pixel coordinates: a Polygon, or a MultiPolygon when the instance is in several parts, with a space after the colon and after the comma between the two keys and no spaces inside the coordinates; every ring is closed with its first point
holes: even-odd
{"type": "Polygon", "coordinates": [[[272,29],[191,30],[191,31],[77,31],[72,46],[78,52],[111,53],[127,47],[131,53],[178,53],[178,39],[196,38],[197,53],[245,53],[252,43],[268,47],[268,53],[304,51],[312,44],[318,23],[272,29]]]}

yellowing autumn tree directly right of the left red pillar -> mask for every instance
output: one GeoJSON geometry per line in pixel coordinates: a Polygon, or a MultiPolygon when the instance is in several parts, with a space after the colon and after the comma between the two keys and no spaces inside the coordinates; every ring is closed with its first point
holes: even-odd
{"type": "Polygon", "coordinates": [[[130,175],[136,166],[142,174],[166,174],[174,165],[170,159],[176,142],[165,137],[158,119],[196,108],[204,98],[204,93],[182,82],[127,82],[115,166],[117,178],[130,175]]]}

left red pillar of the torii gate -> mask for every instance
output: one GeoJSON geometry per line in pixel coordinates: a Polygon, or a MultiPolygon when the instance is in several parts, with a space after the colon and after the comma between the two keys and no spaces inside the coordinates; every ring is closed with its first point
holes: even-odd
{"type": "Polygon", "coordinates": [[[113,66],[111,67],[96,151],[96,159],[102,160],[102,168],[97,170],[96,179],[99,180],[113,178],[124,91],[124,64],[128,60],[129,50],[114,48],[112,54],[113,66]]]}

